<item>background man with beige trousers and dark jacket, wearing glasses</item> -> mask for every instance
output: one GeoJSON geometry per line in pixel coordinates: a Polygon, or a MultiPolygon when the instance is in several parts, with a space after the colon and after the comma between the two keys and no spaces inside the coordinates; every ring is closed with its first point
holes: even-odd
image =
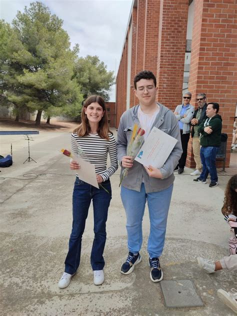
{"type": "Polygon", "coordinates": [[[191,137],[192,137],[192,151],[194,154],[194,160],[196,163],[195,170],[190,173],[190,175],[199,175],[201,174],[201,159],[200,159],[200,136],[198,133],[198,127],[203,120],[206,119],[206,95],[205,93],[198,93],[197,97],[198,107],[194,111],[193,118],[191,120],[191,137]]]}

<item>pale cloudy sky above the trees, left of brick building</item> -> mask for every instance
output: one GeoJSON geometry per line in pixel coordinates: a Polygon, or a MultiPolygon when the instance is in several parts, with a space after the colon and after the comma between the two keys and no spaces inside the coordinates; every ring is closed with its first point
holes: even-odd
{"type": "MultiPolygon", "coordinates": [[[[11,22],[32,0],[0,0],[0,18],[11,22]]],[[[71,47],[79,44],[79,56],[97,55],[107,70],[117,71],[132,0],[41,0],[63,20],[71,47]]],[[[115,101],[115,87],[110,92],[115,101]]]]}

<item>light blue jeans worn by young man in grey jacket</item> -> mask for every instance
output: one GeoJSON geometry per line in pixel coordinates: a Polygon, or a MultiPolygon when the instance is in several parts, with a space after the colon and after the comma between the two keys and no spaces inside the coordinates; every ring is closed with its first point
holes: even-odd
{"type": "Polygon", "coordinates": [[[140,192],[121,186],[121,199],[126,212],[126,230],[128,250],[138,252],[142,244],[142,218],[147,200],[150,233],[147,251],[150,257],[159,257],[163,251],[164,237],[168,209],[171,200],[173,184],[159,191],[146,193],[144,183],[141,183],[140,192]]]}

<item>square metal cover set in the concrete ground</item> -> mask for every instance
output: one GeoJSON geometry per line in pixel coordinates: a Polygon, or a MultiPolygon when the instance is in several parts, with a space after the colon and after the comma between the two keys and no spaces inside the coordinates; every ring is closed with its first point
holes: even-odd
{"type": "Polygon", "coordinates": [[[160,287],[166,307],[203,306],[191,280],[162,280],[160,287]]]}

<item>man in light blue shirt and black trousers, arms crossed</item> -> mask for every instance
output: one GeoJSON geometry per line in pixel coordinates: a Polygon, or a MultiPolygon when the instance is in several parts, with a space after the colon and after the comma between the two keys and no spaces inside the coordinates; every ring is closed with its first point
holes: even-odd
{"type": "Polygon", "coordinates": [[[194,107],[190,104],[191,93],[186,92],[183,95],[182,104],[177,105],[174,110],[174,115],[178,121],[180,129],[180,137],[182,143],[182,155],[176,165],[174,171],[178,171],[178,174],[183,173],[184,166],[187,158],[187,144],[190,136],[190,121],[194,113],[194,107]]]}

